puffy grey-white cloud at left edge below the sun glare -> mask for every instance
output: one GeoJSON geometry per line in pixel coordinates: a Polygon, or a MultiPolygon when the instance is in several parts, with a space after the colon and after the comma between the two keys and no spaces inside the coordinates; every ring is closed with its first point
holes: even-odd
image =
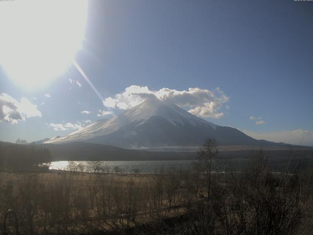
{"type": "Polygon", "coordinates": [[[33,117],[42,117],[42,114],[27,98],[22,97],[19,102],[8,94],[0,94],[0,121],[16,124],[33,117]]]}

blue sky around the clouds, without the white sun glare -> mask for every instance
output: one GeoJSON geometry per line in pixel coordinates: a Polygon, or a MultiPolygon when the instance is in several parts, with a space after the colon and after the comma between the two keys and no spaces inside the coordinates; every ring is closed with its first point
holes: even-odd
{"type": "MultiPolygon", "coordinates": [[[[118,99],[136,85],[152,92],[199,88],[213,92],[216,102],[219,88],[227,99],[202,118],[258,139],[299,143],[304,137],[313,145],[312,23],[309,1],[91,0],[76,61],[103,99],[118,99]]],[[[24,97],[41,113],[17,123],[3,119],[0,141],[64,136],[86,120],[110,117],[97,117],[99,110],[123,111],[105,107],[74,66],[31,91],[0,67],[0,94],[18,105],[24,97]]],[[[197,105],[203,102],[183,106],[197,105]]]]}

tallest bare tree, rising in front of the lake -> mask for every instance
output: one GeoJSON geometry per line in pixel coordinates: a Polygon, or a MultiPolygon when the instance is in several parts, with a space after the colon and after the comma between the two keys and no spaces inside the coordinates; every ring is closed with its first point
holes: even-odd
{"type": "Polygon", "coordinates": [[[207,187],[209,200],[212,184],[212,170],[216,168],[219,159],[218,142],[215,139],[207,139],[198,151],[197,162],[193,163],[194,170],[200,175],[207,187]]]}

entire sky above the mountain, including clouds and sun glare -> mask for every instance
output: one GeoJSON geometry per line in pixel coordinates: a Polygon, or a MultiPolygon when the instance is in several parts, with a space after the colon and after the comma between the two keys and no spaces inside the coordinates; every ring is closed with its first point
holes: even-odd
{"type": "MultiPolygon", "coordinates": [[[[312,1],[90,0],[80,7],[55,7],[49,24],[27,32],[21,21],[0,19],[0,31],[17,33],[0,37],[0,141],[65,136],[153,94],[256,139],[313,146],[312,1]],[[62,14],[64,21],[54,19],[62,14]],[[75,21],[67,25],[68,15],[75,21]],[[53,31],[54,24],[67,27],[53,31]],[[83,41],[66,64],[77,35],[83,41]]],[[[25,22],[31,15],[41,22],[38,8],[24,11],[25,22]]]]}

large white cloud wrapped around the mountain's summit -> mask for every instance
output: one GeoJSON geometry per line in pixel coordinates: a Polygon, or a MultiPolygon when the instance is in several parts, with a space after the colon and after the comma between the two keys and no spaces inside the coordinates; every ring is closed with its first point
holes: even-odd
{"type": "Polygon", "coordinates": [[[224,113],[220,109],[229,100],[229,97],[219,88],[215,90],[189,88],[188,91],[162,88],[151,91],[147,86],[132,85],[121,94],[107,97],[103,101],[103,105],[108,108],[129,109],[148,98],[158,98],[179,107],[189,108],[189,113],[203,118],[223,117],[224,113]]]}

